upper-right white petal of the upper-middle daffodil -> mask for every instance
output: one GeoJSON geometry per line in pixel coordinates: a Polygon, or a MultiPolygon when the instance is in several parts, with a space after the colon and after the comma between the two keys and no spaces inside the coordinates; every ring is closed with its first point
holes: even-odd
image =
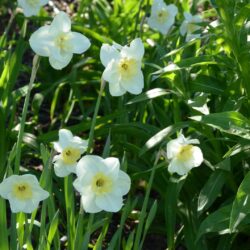
{"type": "Polygon", "coordinates": [[[121,50],[122,57],[135,58],[138,61],[141,61],[144,55],[144,45],[141,38],[134,39],[130,46],[124,46],[121,50]]]}

